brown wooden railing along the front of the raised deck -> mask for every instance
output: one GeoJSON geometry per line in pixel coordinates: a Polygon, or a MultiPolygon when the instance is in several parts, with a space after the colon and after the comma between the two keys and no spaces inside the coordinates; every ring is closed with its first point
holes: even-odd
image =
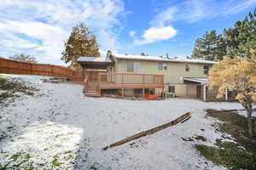
{"type": "Polygon", "coordinates": [[[99,73],[98,82],[116,84],[163,84],[164,75],[136,73],[99,73]]]}

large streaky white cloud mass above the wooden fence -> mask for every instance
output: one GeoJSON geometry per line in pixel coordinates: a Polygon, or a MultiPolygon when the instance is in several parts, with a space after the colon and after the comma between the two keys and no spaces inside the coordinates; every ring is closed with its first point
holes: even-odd
{"type": "Polygon", "coordinates": [[[114,50],[123,13],[121,0],[1,0],[0,54],[27,53],[60,64],[64,41],[79,22],[96,34],[102,51],[114,50]]]}

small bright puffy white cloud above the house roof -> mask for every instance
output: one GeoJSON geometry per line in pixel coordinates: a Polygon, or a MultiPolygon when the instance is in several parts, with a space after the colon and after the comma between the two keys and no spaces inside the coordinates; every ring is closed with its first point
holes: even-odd
{"type": "Polygon", "coordinates": [[[136,44],[147,44],[167,40],[177,35],[177,31],[172,26],[150,27],[144,31],[143,40],[135,40],[136,44]]]}

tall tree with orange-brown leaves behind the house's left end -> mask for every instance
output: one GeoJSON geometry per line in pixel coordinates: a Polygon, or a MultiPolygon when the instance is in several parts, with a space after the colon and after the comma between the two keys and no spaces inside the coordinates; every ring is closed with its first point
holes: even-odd
{"type": "Polygon", "coordinates": [[[99,45],[96,42],[96,36],[91,34],[89,28],[80,24],[73,27],[73,30],[65,42],[65,50],[62,52],[61,59],[65,63],[70,63],[71,67],[78,68],[76,60],[80,56],[98,57],[100,56],[99,45]]]}

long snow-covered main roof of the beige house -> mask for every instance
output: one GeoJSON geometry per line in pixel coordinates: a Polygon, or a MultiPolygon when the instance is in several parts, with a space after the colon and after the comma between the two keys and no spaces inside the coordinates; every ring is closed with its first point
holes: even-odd
{"type": "Polygon", "coordinates": [[[208,61],[203,59],[182,59],[174,57],[160,57],[160,56],[144,56],[144,55],[131,55],[131,54],[113,54],[116,59],[134,59],[134,60],[151,60],[163,62],[180,62],[180,63],[201,63],[201,64],[216,64],[215,61],[208,61]]]}

